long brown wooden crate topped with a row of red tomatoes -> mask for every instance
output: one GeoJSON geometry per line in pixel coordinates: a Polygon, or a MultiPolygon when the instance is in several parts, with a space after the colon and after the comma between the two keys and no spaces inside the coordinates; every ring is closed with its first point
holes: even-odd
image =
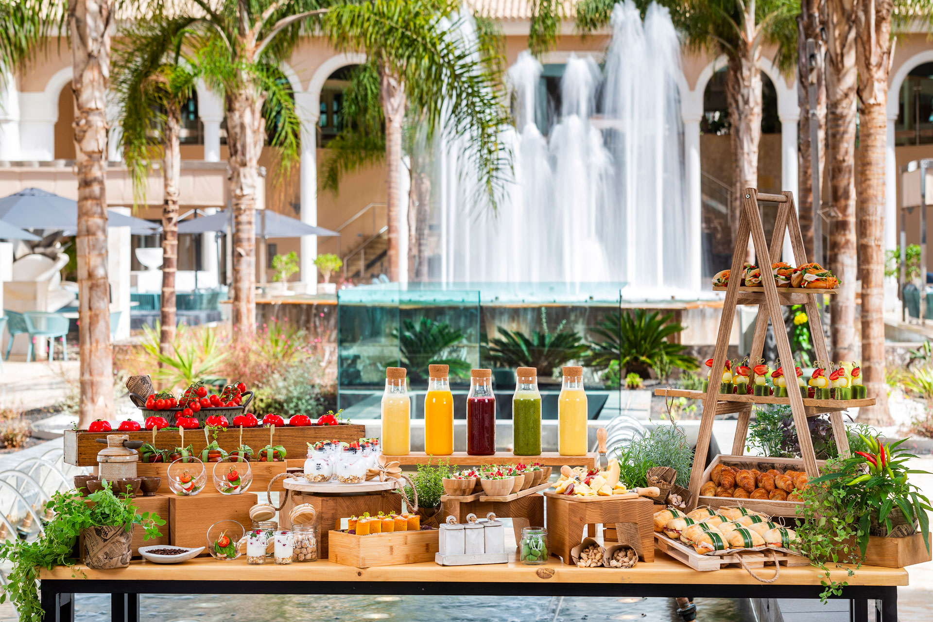
{"type": "MultiPolygon", "coordinates": [[[[75,466],[97,466],[97,453],[104,449],[96,441],[97,438],[106,438],[107,435],[128,435],[130,440],[141,440],[152,443],[152,432],[141,430],[139,432],[86,432],[82,430],[65,430],[64,432],[64,462],[75,466]]],[[[215,440],[214,431],[208,431],[208,438],[215,440]]],[[[269,428],[244,428],[243,442],[254,451],[269,445],[269,428]]],[[[339,440],[352,443],[366,436],[366,426],[358,423],[344,425],[309,425],[304,427],[275,428],[272,435],[272,445],[281,445],[285,448],[289,458],[303,459],[308,454],[308,443],[319,440],[339,440]]],[[[216,431],[217,444],[227,451],[240,446],[240,428],[218,429],[216,431]]],[[[174,449],[181,444],[181,436],[177,430],[160,430],[156,433],[157,449],[174,449]]],[[[190,444],[195,453],[200,453],[207,445],[204,431],[189,430],[185,432],[185,444],[190,444]]]]}

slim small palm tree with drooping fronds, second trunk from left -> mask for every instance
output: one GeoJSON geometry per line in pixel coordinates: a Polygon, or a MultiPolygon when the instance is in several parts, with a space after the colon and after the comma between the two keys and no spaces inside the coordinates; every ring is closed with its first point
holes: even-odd
{"type": "Polygon", "coordinates": [[[132,175],[137,200],[145,202],[153,161],[162,160],[159,341],[164,355],[172,353],[175,336],[181,111],[197,80],[196,66],[182,58],[180,47],[181,34],[190,23],[186,18],[136,22],[120,33],[114,65],[123,159],[132,175]]]}

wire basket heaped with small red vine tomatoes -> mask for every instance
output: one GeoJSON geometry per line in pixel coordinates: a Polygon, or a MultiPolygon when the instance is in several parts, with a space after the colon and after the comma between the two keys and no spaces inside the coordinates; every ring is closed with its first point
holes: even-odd
{"type": "Polygon", "coordinates": [[[243,382],[233,382],[219,394],[212,394],[199,380],[188,386],[177,398],[171,392],[164,391],[146,397],[131,393],[130,399],[146,419],[164,417],[169,425],[174,426],[175,417],[194,417],[203,425],[212,415],[223,415],[232,420],[236,415],[243,414],[253,401],[253,392],[246,391],[243,382]]]}

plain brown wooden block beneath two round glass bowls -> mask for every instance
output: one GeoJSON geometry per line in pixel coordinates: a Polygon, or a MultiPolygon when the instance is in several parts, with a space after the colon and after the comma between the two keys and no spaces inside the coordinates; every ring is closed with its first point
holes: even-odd
{"type": "Polygon", "coordinates": [[[169,497],[172,544],[206,546],[207,529],[218,520],[236,520],[243,525],[244,530],[248,530],[253,526],[253,521],[249,518],[249,508],[256,504],[255,492],[169,497]]]}

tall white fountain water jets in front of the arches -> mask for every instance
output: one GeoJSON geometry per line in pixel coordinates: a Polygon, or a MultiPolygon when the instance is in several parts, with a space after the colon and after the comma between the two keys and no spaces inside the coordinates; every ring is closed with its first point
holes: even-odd
{"type": "MultiPolygon", "coordinates": [[[[629,283],[627,296],[689,288],[680,46],[666,8],[642,21],[614,7],[605,67],[571,54],[547,135],[543,68],[527,51],[508,68],[515,127],[502,131],[512,178],[493,210],[463,166],[471,148],[437,146],[432,279],[443,283],[629,283]],[[663,291],[661,291],[663,290],[663,291]]],[[[464,33],[463,36],[470,36],[464,33]]]]}

